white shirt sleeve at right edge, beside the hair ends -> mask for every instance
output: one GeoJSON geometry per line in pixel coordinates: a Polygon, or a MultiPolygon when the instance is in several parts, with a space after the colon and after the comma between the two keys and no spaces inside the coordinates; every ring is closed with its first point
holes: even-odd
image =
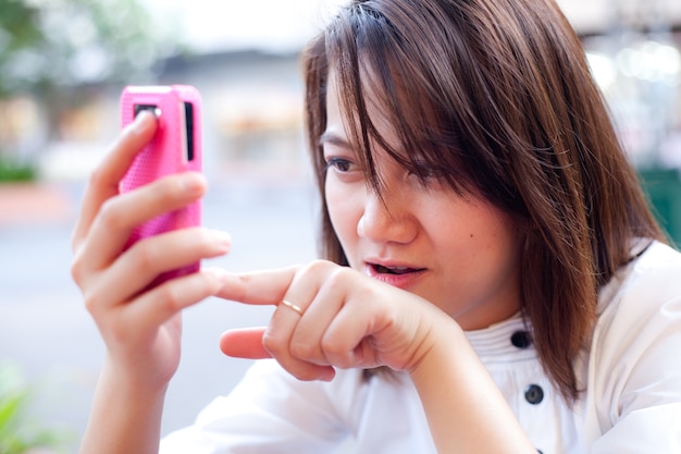
{"type": "Polygon", "coordinates": [[[600,316],[593,454],[681,454],[681,255],[652,246],[600,316]]]}

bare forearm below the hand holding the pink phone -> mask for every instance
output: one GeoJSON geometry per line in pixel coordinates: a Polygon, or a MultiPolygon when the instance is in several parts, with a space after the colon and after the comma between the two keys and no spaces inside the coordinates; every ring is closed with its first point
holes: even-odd
{"type": "Polygon", "coordinates": [[[165,390],[140,390],[106,365],[79,454],[158,453],[165,390]]]}

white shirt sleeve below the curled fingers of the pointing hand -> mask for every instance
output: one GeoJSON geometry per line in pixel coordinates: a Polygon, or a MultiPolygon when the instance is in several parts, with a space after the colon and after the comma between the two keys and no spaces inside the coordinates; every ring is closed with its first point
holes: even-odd
{"type": "Polygon", "coordinates": [[[161,440],[162,454],[333,453],[348,429],[330,383],[300,382],[273,360],[257,361],[195,424],[161,440]]]}

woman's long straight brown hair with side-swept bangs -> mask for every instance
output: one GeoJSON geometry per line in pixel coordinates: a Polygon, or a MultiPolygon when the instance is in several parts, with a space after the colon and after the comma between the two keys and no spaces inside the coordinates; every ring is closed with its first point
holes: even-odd
{"type": "Polygon", "coordinates": [[[302,62],[322,255],[347,265],[323,197],[319,145],[333,71],[350,137],[377,191],[372,142],[417,174],[425,160],[453,188],[482,195],[517,221],[523,315],[544,369],[572,402],[572,361],[589,340],[599,287],[631,259],[634,238],[661,234],[558,7],[352,1],[309,44],[302,62]],[[379,135],[367,112],[376,101],[403,148],[418,156],[391,150],[379,135]]]}

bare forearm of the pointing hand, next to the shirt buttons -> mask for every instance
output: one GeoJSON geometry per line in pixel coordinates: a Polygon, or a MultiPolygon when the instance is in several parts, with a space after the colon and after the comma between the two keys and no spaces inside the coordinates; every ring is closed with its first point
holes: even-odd
{"type": "Polygon", "coordinates": [[[535,454],[463,332],[439,332],[411,371],[438,453],[535,454]]]}

